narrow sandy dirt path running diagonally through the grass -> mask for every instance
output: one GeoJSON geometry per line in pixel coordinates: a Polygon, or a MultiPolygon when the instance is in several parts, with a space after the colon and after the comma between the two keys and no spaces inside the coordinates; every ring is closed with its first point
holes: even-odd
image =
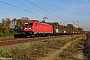
{"type": "MultiPolygon", "coordinates": [[[[84,35],[83,35],[84,36],[84,35]]],[[[82,37],[83,37],[82,36],[82,37]]],[[[67,47],[69,47],[73,42],[81,39],[82,37],[80,38],[77,38],[69,43],[66,43],[64,46],[62,46],[59,50],[55,50],[55,51],[52,51],[50,52],[49,54],[47,54],[47,56],[45,57],[41,57],[40,59],[38,60],[53,60],[56,56],[58,56],[61,52],[63,52],[64,49],[66,49],[67,47]]]]}

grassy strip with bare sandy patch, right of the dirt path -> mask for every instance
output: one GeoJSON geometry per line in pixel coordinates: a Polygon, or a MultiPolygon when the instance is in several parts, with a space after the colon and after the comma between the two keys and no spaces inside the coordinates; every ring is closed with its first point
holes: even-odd
{"type": "Polygon", "coordinates": [[[83,39],[73,42],[60,55],[55,57],[54,60],[86,60],[84,48],[85,37],[83,39]]]}

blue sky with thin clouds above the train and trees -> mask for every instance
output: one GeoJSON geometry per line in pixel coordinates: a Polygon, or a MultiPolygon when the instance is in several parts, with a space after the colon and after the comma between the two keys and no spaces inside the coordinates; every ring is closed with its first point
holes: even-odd
{"type": "MultiPolygon", "coordinates": [[[[90,31],[90,0],[0,0],[0,21],[3,18],[21,18],[37,19],[41,21],[43,17],[48,17],[46,21],[76,23],[84,30],[90,31]],[[29,12],[2,3],[4,1],[17,6],[29,12]],[[47,8],[47,7],[49,8],[47,8]],[[39,8],[40,7],[40,8],[39,8]],[[53,11],[52,11],[53,10],[53,11]],[[31,12],[31,13],[30,13],[31,12]],[[38,15],[40,16],[38,16],[38,15]]],[[[77,27],[77,25],[75,25],[77,27]]]]}

